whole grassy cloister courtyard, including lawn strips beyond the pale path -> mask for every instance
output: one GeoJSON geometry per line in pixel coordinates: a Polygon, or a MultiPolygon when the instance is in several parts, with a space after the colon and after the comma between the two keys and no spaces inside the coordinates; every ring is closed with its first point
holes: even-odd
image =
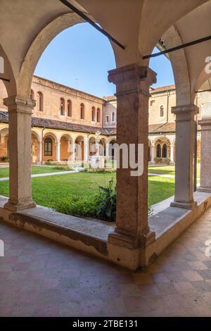
{"type": "MultiPolygon", "coordinates": [[[[8,196],[9,182],[6,180],[8,170],[8,167],[0,168],[0,194],[3,196],[8,196]],[[3,181],[1,181],[2,177],[5,177],[3,181]]],[[[65,168],[56,165],[32,165],[32,175],[63,173],[64,170],[65,168]]],[[[149,205],[158,204],[174,195],[174,165],[149,165],[148,174],[149,205]]],[[[198,166],[198,179],[199,174],[198,166]]],[[[69,174],[32,177],[32,197],[37,204],[56,209],[57,201],[67,200],[68,196],[71,199],[72,194],[89,198],[91,194],[98,192],[99,186],[107,187],[108,182],[112,179],[115,187],[115,170],[103,172],[90,169],[89,172],[80,171],[79,173],[72,173],[70,170],[69,174]]]]}

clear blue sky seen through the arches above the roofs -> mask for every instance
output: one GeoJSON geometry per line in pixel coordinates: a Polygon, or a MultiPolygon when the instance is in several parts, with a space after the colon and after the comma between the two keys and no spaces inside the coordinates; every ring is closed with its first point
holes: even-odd
{"type": "MultiPolygon", "coordinates": [[[[170,61],[165,56],[151,59],[151,68],[158,73],[153,87],[174,83],[170,61]]],[[[88,23],[81,23],[61,32],[47,46],[34,74],[60,82],[96,96],[115,93],[108,82],[108,70],[115,68],[110,42],[88,23]]]]}

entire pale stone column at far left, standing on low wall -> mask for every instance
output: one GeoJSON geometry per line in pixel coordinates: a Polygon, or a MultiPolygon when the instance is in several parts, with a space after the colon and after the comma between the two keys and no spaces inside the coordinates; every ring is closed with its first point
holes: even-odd
{"type": "Polygon", "coordinates": [[[9,122],[9,199],[4,205],[11,211],[36,206],[31,189],[31,126],[35,102],[23,96],[4,99],[9,122]]]}

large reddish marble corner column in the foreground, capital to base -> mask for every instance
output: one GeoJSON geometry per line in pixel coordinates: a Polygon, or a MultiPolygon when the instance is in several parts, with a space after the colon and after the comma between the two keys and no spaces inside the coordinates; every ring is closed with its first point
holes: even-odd
{"type": "Polygon", "coordinates": [[[132,176],[132,168],[117,169],[117,216],[115,232],[108,242],[127,249],[145,248],[154,241],[148,226],[148,99],[155,73],[132,64],[109,71],[109,82],[117,87],[117,144],[143,144],[143,174],[132,176]]]}

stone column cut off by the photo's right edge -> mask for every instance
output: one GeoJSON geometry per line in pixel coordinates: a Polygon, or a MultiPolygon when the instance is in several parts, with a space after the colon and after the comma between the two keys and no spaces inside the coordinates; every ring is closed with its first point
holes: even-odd
{"type": "Polygon", "coordinates": [[[211,192],[211,118],[200,120],[200,192],[211,192]]]}

